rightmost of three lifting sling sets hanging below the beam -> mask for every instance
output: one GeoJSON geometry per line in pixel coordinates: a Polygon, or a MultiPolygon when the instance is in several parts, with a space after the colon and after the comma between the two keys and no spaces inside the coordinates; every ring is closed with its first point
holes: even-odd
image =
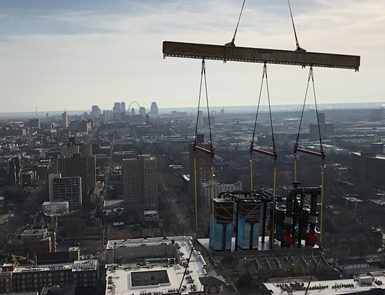
{"type": "Polygon", "coordinates": [[[294,180],[297,181],[297,152],[300,151],[302,153],[307,153],[309,155],[316,155],[321,158],[322,161],[322,171],[321,171],[321,212],[320,212],[320,242],[322,241],[322,217],[323,217],[323,177],[324,177],[324,171],[325,171],[325,153],[323,151],[323,145],[322,145],[322,138],[320,133],[320,119],[318,116],[318,108],[317,108],[317,99],[316,99],[316,88],[314,87],[314,73],[313,73],[313,67],[310,67],[309,69],[309,78],[307,79],[307,87],[305,92],[305,99],[303,101],[302,106],[302,113],[301,113],[301,119],[300,119],[300,126],[298,128],[298,134],[296,139],[296,144],[294,146],[294,180]],[[300,140],[300,130],[301,130],[301,124],[302,124],[302,118],[303,118],[303,112],[305,110],[305,104],[306,104],[306,98],[307,98],[307,91],[309,90],[309,83],[313,84],[313,94],[314,94],[314,104],[316,106],[316,115],[317,115],[317,124],[318,124],[318,135],[320,140],[320,153],[316,153],[314,151],[308,151],[306,149],[299,149],[298,148],[298,142],[300,140]]]}

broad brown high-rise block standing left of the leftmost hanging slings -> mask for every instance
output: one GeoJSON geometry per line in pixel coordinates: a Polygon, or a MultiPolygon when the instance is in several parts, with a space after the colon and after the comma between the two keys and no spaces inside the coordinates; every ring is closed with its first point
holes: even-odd
{"type": "Polygon", "coordinates": [[[138,209],[157,209],[157,165],[151,155],[123,159],[124,203],[138,209]]]}

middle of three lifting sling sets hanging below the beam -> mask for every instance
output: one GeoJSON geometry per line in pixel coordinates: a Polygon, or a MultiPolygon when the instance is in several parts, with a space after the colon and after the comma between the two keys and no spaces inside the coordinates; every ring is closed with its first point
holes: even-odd
{"type": "MultiPolygon", "coordinates": [[[[259,98],[258,98],[258,106],[257,106],[257,113],[255,115],[255,123],[254,123],[254,130],[253,130],[253,138],[251,140],[250,144],[250,189],[253,190],[253,151],[256,151],[257,153],[262,153],[264,155],[269,155],[273,157],[274,162],[274,174],[273,174],[273,229],[275,227],[275,184],[276,184],[276,163],[277,163],[277,150],[275,149],[275,140],[274,140],[274,131],[273,131],[273,119],[271,117],[271,103],[270,103],[270,93],[268,92],[268,79],[267,79],[267,67],[266,62],[264,64],[264,68],[262,71],[262,81],[261,81],[261,87],[259,89],[259,98]],[[273,153],[264,151],[262,149],[255,149],[254,143],[255,143],[255,129],[257,128],[257,119],[258,119],[258,112],[259,112],[259,105],[261,102],[261,95],[262,95],[262,86],[264,84],[264,78],[266,76],[266,90],[267,90],[267,99],[268,99],[268,111],[270,115],[270,126],[271,126],[271,140],[273,141],[273,153]]],[[[271,240],[271,248],[274,247],[274,230],[273,230],[273,237],[271,240]]]]}

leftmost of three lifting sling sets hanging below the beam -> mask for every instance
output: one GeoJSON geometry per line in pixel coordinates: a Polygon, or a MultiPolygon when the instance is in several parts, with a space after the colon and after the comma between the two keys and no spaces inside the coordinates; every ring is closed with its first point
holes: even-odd
{"type": "MultiPolygon", "coordinates": [[[[199,87],[199,99],[198,99],[198,113],[196,116],[196,128],[195,128],[195,138],[194,138],[194,145],[193,145],[193,153],[194,153],[194,186],[195,186],[195,219],[196,219],[196,237],[198,237],[198,202],[197,202],[197,181],[196,181],[196,151],[201,151],[203,153],[207,153],[210,155],[211,161],[212,161],[212,210],[214,210],[214,148],[212,146],[212,132],[211,132],[211,123],[210,123],[210,114],[209,114],[209,99],[207,94],[207,81],[206,81],[206,65],[205,65],[205,58],[202,59],[202,68],[200,71],[200,87],[199,87]],[[200,97],[202,94],[202,83],[203,83],[203,77],[205,79],[205,94],[206,94],[206,102],[207,102],[207,118],[208,118],[208,124],[209,124],[209,136],[210,136],[210,149],[205,149],[201,146],[198,146],[196,139],[197,139],[197,133],[198,133],[198,120],[199,120],[199,109],[200,109],[200,97]]],[[[212,214],[212,221],[214,226],[214,214],[212,214]]],[[[214,230],[213,230],[214,235],[214,230]]],[[[214,239],[213,239],[214,241],[214,239]]]]}

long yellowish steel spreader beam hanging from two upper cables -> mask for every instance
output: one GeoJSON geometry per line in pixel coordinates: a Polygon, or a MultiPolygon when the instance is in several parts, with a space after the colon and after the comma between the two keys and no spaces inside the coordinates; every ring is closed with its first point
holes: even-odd
{"type": "Polygon", "coordinates": [[[262,62],[280,65],[300,65],[313,67],[334,67],[338,69],[359,70],[359,56],[345,56],[334,53],[316,53],[235,47],[232,45],[211,45],[184,42],[163,42],[163,56],[175,58],[205,58],[223,62],[262,62]]]}

